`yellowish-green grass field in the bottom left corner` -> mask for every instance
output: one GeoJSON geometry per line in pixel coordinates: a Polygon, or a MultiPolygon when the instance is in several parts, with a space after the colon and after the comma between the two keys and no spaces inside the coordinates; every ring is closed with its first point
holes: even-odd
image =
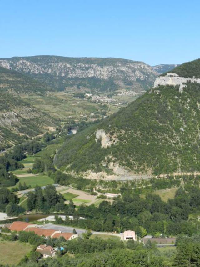
{"type": "Polygon", "coordinates": [[[32,246],[19,241],[0,241],[0,264],[17,265],[32,250],[32,246]]]}

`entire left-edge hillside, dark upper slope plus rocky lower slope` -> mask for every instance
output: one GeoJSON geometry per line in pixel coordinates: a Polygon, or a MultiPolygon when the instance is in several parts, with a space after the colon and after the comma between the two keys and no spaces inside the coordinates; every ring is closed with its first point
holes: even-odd
{"type": "Polygon", "coordinates": [[[58,125],[47,113],[21,98],[22,94],[44,95],[50,87],[29,76],[0,68],[0,148],[21,143],[58,125]]]}

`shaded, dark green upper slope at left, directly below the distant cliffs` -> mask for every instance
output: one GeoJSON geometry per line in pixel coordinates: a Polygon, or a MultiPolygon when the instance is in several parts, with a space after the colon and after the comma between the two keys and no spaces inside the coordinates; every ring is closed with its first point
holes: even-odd
{"type": "Polygon", "coordinates": [[[52,91],[53,88],[40,83],[28,75],[0,67],[0,90],[12,94],[32,94],[45,93],[52,91]]]}

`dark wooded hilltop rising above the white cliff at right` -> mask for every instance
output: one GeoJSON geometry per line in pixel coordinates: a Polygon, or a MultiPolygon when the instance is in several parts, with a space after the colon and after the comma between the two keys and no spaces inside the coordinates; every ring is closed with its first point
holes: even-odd
{"type": "MultiPolygon", "coordinates": [[[[180,77],[185,78],[200,78],[200,58],[183,63],[182,65],[179,65],[178,67],[168,72],[177,73],[180,77]]],[[[165,74],[166,73],[164,73],[162,76],[164,76],[165,74]]]]}

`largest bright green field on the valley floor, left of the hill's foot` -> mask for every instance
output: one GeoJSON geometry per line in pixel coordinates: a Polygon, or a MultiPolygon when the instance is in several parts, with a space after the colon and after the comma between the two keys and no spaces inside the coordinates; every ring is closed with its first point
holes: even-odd
{"type": "MultiPolygon", "coordinates": [[[[25,182],[28,186],[30,185],[31,188],[35,187],[36,185],[45,186],[47,184],[54,183],[53,179],[51,179],[47,175],[42,175],[42,174],[38,176],[18,177],[18,179],[22,185],[25,182]]],[[[14,187],[18,186],[19,182],[17,182],[17,184],[14,187]]]]}

